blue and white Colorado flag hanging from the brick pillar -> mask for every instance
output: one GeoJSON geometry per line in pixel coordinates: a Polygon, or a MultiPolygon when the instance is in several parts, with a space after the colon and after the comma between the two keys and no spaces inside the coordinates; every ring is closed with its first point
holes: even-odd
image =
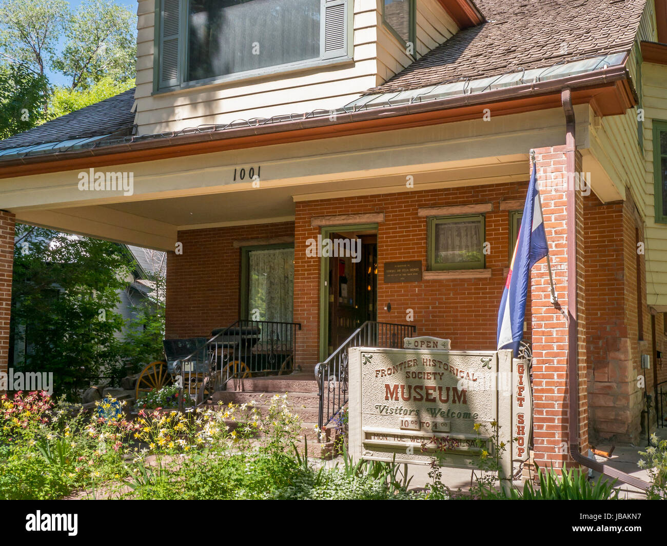
{"type": "Polygon", "coordinates": [[[524,339],[530,269],[549,252],[534,162],[532,170],[524,216],[498,310],[498,349],[512,349],[515,357],[519,342],[524,339]]]}

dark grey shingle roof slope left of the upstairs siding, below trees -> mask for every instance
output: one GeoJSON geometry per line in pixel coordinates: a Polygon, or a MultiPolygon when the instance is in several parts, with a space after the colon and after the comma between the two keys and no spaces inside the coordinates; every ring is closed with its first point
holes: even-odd
{"type": "Polygon", "coordinates": [[[133,104],[134,88],[0,141],[0,150],[112,133],[129,135],[133,104]]]}

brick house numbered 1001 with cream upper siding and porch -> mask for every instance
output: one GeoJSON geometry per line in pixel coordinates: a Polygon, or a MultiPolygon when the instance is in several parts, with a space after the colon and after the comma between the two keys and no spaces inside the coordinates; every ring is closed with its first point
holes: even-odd
{"type": "Polygon", "coordinates": [[[275,7],[139,0],[137,87],[0,142],[0,365],[15,221],[169,252],[167,337],[299,323],[295,391],[366,321],[495,349],[534,150],[535,459],[637,441],[667,380],[667,1],[275,7]]]}

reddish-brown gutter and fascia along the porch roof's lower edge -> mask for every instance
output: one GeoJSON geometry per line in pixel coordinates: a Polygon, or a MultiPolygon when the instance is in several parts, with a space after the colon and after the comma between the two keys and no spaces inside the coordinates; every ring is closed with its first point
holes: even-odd
{"type": "MultiPolygon", "coordinates": [[[[435,125],[480,117],[480,107],[495,105],[496,115],[534,111],[560,106],[560,90],[570,87],[579,91],[578,101],[593,101],[598,115],[616,115],[637,103],[634,88],[629,83],[627,69],[620,65],[598,71],[507,87],[458,95],[446,99],[359,110],[339,114],[336,121],[328,117],[309,117],[272,125],[237,127],[225,131],[189,133],[175,137],[136,140],[91,149],[79,149],[53,154],[35,155],[0,161],[0,178],[20,177],[39,173],[66,171],[91,166],[142,163],[167,157],[212,153],[225,149],[242,149],[325,139],[362,133],[435,125]],[[599,90],[606,99],[614,97],[617,104],[606,108],[595,101],[599,90]],[[558,97],[556,97],[558,95],[558,97]],[[550,100],[552,97],[553,100],[550,100]],[[614,106],[616,108],[614,109],[614,106]]],[[[614,102],[614,101],[611,101],[614,102]]]]}

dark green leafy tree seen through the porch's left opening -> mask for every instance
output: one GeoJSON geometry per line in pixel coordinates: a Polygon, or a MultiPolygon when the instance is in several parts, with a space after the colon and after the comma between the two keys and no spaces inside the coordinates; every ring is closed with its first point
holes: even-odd
{"type": "Polygon", "coordinates": [[[53,372],[55,393],[72,396],[119,367],[115,308],[133,260],[117,243],[20,224],[16,233],[11,337],[29,350],[15,367],[53,372]]]}

